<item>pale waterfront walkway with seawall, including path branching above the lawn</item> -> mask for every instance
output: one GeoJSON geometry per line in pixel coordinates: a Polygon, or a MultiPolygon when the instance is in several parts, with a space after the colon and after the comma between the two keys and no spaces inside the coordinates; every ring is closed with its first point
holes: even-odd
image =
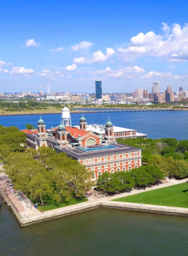
{"type": "MultiPolygon", "coordinates": [[[[2,173],[0,174],[0,176],[2,173]]],[[[111,201],[113,199],[118,199],[120,197],[126,197],[129,195],[136,195],[144,191],[152,191],[155,189],[161,189],[163,187],[169,187],[172,185],[177,185],[187,182],[188,179],[183,179],[177,181],[175,179],[166,179],[160,185],[154,185],[153,187],[146,187],[146,189],[133,189],[130,193],[120,193],[118,195],[107,196],[107,197],[97,197],[97,193],[90,193],[87,197],[88,201],[84,203],[79,203],[77,205],[70,205],[62,208],[57,208],[55,210],[50,210],[48,212],[40,212],[34,205],[32,205],[29,199],[22,199],[17,194],[6,193],[5,192],[5,181],[1,181],[1,194],[3,193],[3,198],[7,201],[7,205],[13,210],[13,214],[19,221],[21,226],[27,226],[30,224],[35,224],[38,222],[43,222],[46,220],[52,220],[54,218],[61,218],[63,216],[69,216],[76,214],[77,212],[83,212],[85,210],[92,210],[97,207],[113,207],[120,208],[124,210],[137,211],[137,212],[148,212],[156,214],[167,214],[176,216],[187,216],[188,208],[183,207],[168,207],[160,205],[141,205],[139,203],[124,203],[118,201],[111,201]]]]}

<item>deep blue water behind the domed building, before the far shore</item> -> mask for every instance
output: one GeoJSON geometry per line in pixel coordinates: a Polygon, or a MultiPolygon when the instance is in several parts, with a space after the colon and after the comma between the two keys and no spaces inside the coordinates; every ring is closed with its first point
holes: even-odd
{"type": "MultiPolygon", "coordinates": [[[[175,137],[188,139],[188,111],[148,111],[148,112],[111,112],[111,113],[85,113],[87,123],[105,125],[108,116],[113,125],[136,129],[140,133],[146,133],[152,139],[161,137],[175,137]]],[[[81,114],[72,114],[72,124],[79,125],[81,114]]],[[[16,126],[26,129],[26,123],[37,126],[39,115],[20,115],[0,117],[0,124],[16,126]]],[[[60,124],[60,114],[42,115],[46,127],[60,124]]]]}

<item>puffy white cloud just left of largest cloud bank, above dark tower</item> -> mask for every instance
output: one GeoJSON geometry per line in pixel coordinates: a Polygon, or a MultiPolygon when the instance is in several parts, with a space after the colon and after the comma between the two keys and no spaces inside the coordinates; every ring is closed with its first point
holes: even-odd
{"type": "Polygon", "coordinates": [[[93,53],[92,58],[85,58],[85,57],[80,57],[80,58],[75,58],[73,59],[73,63],[77,64],[84,64],[84,63],[103,63],[107,61],[107,59],[110,59],[115,55],[115,51],[111,48],[106,49],[106,54],[102,53],[101,51],[97,51],[93,53]]]}

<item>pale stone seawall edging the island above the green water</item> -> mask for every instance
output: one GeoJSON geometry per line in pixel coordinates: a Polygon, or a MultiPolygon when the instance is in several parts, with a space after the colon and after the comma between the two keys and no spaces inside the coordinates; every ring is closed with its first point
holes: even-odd
{"type": "Polygon", "coordinates": [[[188,217],[188,208],[167,207],[167,206],[165,207],[160,205],[140,205],[138,203],[122,203],[117,201],[95,201],[95,202],[85,202],[85,203],[79,203],[77,205],[62,207],[56,210],[45,212],[42,215],[40,214],[38,216],[34,216],[31,218],[23,218],[21,214],[17,213],[14,205],[11,202],[7,201],[7,203],[11,207],[11,210],[13,211],[13,214],[17,218],[20,226],[38,224],[40,222],[54,220],[56,218],[67,217],[73,214],[78,214],[81,212],[90,211],[90,210],[103,208],[103,207],[111,208],[111,209],[121,209],[121,210],[126,210],[131,212],[144,212],[148,214],[163,214],[163,215],[169,215],[169,216],[188,217]]]}

